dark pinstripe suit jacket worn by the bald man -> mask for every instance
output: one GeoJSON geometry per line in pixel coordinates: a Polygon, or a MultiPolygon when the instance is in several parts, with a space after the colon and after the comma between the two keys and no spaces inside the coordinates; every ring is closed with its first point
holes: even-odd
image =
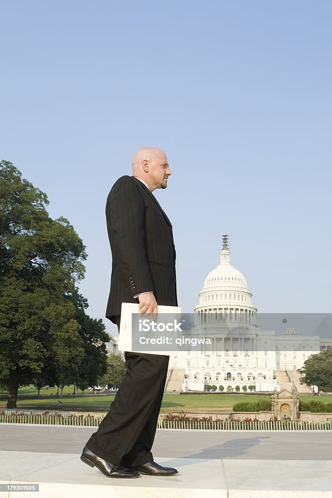
{"type": "Polygon", "coordinates": [[[150,190],[133,176],[113,185],[106,204],[112,252],[106,317],[115,323],[122,302],[153,291],[158,304],[177,306],[172,225],[150,190]]]}

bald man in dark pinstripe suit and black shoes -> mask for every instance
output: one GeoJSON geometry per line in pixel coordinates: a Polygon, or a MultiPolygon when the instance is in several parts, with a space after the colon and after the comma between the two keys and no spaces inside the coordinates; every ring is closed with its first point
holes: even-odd
{"type": "MultiPolygon", "coordinates": [[[[138,303],[140,313],[154,315],[158,304],[178,304],[172,225],[152,194],[166,189],[170,176],[165,153],[142,147],[133,157],[132,176],[119,178],[108,196],[112,273],[106,316],[118,329],[122,302],[138,303]]],[[[107,477],[175,475],[176,469],[157,464],[151,453],[169,357],[124,356],[124,379],[81,460],[107,477]]]]}

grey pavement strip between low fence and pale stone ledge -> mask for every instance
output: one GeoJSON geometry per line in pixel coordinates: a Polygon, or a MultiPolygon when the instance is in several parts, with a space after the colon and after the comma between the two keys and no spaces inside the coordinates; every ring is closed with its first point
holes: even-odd
{"type": "MultiPolygon", "coordinates": [[[[0,450],[80,453],[97,427],[0,424],[0,450]]],[[[154,457],[245,460],[332,460],[332,431],[156,432],[154,457]]],[[[332,464],[332,462],[331,462],[332,464]]]]}

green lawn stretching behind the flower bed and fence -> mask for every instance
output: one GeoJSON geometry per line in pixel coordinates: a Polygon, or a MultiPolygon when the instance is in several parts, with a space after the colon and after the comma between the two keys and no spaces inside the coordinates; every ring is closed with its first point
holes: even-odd
{"type": "MultiPolygon", "coordinates": [[[[32,391],[32,389],[31,389],[32,391]]],[[[69,388],[72,392],[72,388],[69,388]]],[[[46,393],[47,390],[46,390],[46,393]]],[[[210,395],[210,394],[169,394],[165,393],[163,397],[163,402],[161,406],[161,413],[169,413],[171,411],[184,410],[185,412],[190,412],[192,410],[205,411],[206,413],[213,413],[217,410],[231,410],[234,403],[240,401],[256,401],[258,399],[264,399],[266,397],[269,399],[269,395],[245,395],[245,394],[222,394],[222,395],[210,395]]],[[[65,394],[62,398],[59,396],[46,396],[43,395],[40,399],[28,398],[26,396],[26,391],[20,393],[17,400],[17,406],[21,409],[40,409],[40,410],[69,410],[69,411],[107,411],[110,408],[110,404],[114,399],[114,394],[85,394],[71,396],[65,394]],[[62,400],[62,406],[57,406],[56,401],[58,399],[62,400]]],[[[310,396],[304,395],[300,396],[300,399],[308,401],[309,399],[315,399],[323,402],[332,401],[331,395],[325,396],[310,396]]],[[[6,405],[6,400],[0,398],[0,408],[4,408],[6,405]]]]}

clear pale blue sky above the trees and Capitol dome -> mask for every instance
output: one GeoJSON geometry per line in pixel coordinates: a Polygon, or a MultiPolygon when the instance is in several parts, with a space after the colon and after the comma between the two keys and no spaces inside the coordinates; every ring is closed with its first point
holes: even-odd
{"type": "Polygon", "coordinates": [[[330,0],[11,0],[0,17],[0,157],[82,237],[91,316],[109,292],[106,198],[142,145],[173,173],[155,194],[185,312],[225,232],[259,312],[331,311],[330,0]]]}

